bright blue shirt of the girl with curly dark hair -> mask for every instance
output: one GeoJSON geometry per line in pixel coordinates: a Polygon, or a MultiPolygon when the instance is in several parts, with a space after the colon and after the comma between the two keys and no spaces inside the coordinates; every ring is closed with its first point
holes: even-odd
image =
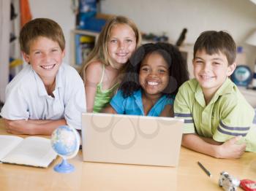
{"type": "MultiPolygon", "coordinates": [[[[173,98],[167,98],[167,95],[162,95],[150,109],[148,116],[158,117],[168,104],[173,105],[173,98]]],[[[116,95],[111,99],[110,105],[116,110],[117,114],[145,115],[141,90],[135,91],[127,98],[124,98],[122,91],[118,90],[116,95]]]]}

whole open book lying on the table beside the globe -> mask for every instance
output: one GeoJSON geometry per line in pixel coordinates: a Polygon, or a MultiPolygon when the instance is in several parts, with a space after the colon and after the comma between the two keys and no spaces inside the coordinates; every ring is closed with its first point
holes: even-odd
{"type": "Polygon", "coordinates": [[[46,168],[56,158],[50,139],[0,135],[0,161],[46,168]]]}

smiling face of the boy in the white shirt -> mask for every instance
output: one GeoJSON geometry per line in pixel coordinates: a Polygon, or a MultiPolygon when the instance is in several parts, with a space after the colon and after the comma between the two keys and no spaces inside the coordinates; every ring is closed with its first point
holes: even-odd
{"type": "Polygon", "coordinates": [[[55,79],[64,57],[64,51],[61,50],[58,42],[39,36],[31,42],[29,54],[23,52],[23,57],[45,82],[45,80],[55,79]]]}

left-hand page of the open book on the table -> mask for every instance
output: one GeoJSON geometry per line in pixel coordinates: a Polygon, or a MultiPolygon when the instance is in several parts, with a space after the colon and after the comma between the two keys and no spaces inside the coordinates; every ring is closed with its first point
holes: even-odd
{"type": "Polygon", "coordinates": [[[23,138],[19,136],[2,136],[0,135],[0,160],[15,148],[23,138]]]}

